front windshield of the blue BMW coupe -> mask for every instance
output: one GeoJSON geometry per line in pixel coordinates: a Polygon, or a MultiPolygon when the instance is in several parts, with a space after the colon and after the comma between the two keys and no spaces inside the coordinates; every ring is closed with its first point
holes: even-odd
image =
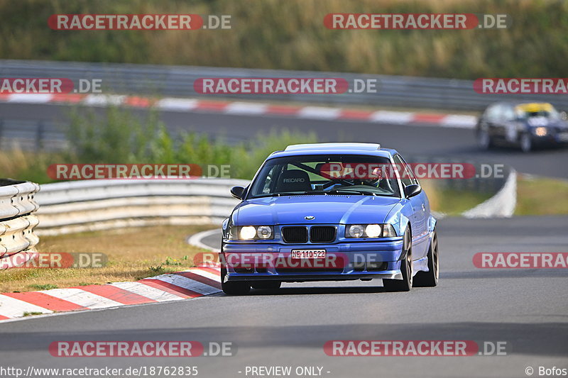
{"type": "Polygon", "coordinates": [[[391,162],[386,157],[367,155],[277,157],[263,165],[251,184],[249,198],[299,194],[398,197],[397,178],[381,174],[378,168],[388,166],[391,162]]]}

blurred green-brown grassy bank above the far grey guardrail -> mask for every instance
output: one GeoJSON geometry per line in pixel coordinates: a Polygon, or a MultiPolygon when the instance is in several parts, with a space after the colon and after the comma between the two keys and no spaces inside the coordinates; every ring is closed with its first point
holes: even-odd
{"type": "Polygon", "coordinates": [[[0,0],[0,57],[428,77],[564,77],[568,1],[0,0]],[[506,13],[496,30],[329,30],[327,13],[506,13]],[[53,13],[231,15],[231,30],[50,30],[53,13]]]}

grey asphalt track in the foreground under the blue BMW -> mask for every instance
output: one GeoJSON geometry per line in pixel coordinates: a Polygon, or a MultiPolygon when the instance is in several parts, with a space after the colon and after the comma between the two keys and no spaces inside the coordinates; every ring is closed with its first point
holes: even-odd
{"type": "MultiPolygon", "coordinates": [[[[67,313],[0,324],[11,366],[195,365],[199,377],[246,366],[320,366],[324,377],[526,377],[567,367],[566,269],[478,269],[476,252],[568,252],[568,217],[439,222],[436,288],[387,293],[380,281],[285,284],[277,292],[67,313]],[[58,358],[56,340],[228,341],[236,357],[58,358]],[[329,357],[327,340],[506,341],[506,356],[329,357]],[[329,372],[329,373],[327,373],[329,372]]],[[[219,237],[204,240],[219,246],[219,237]]],[[[241,373],[239,373],[241,372],[241,373]]],[[[248,377],[251,377],[250,375],[248,377]]]]}

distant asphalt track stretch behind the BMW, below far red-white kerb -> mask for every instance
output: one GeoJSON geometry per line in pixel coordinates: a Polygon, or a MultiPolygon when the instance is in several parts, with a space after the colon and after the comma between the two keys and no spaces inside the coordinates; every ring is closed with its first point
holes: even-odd
{"type": "MultiPolygon", "coordinates": [[[[53,104],[0,104],[6,120],[55,121],[67,123],[70,106],[53,104]]],[[[100,111],[100,110],[99,110],[100,111]]],[[[136,110],[138,114],[145,111],[136,110]]],[[[163,111],[161,119],[170,130],[192,130],[223,135],[226,140],[246,140],[261,131],[280,128],[314,132],[322,142],[373,142],[407,155],[464,157],[508,164],[518,172],[568,178],[568,148],[537,150],[524,154],[516,148],[485,152],[476,146],[474,131],[438,126],[400,126],[366,121],[324,121],[277,116],[241,116],[221,113],[163,111]]]]}

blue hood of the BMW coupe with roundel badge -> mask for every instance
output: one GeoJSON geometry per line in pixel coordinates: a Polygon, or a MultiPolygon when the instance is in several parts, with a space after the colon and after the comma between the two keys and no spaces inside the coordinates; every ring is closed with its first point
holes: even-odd
{"type": "Polygon", "coordinates": [[[351,195],[303,195],[251,199],[236,207],[239,226],[302,223],[383,223],[400,198],[351,195]],[[313,216],[313,220],[306,220],[313,216]]]}

